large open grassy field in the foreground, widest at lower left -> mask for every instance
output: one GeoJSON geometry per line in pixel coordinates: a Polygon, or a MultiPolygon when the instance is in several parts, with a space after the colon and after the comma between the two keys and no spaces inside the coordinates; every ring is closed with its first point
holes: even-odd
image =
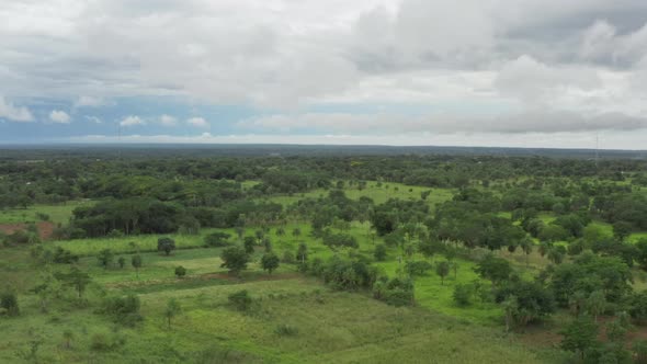
{"type": "MultiPolygon", "coordinates": [[[[27,262],[26,249],[8,251],[10,257],[0,261],[2,281],[37,276],[27,263],[8,264],[13,259],[27,262]]],[[[80,266],[94,282],[87,293],[88,308],[56,304],[42,312],[36,296],[25,291],[20,296],[22,315],[0,320],[7,338],[0,344],[0,362],[20,362],[18,356],[25,356],[35,341],[43,363],[550,363],[560,357],[524,348],[500,328],[428,309],[433,293],[420,297],[420,307],[395,308],[365,294],[330,291],[292,273],[290,265],[270,276],[252,263],[240,280],[230,278],[219,268],[218,249],[143,255],[139,277],[132,268],[104,270],[93,257],[82,259],[80,266]],[[188,268],[186,277],[173,277],[177,265],[188,268]],[[229,307],[227,296],[239,289],[259,303],[256,310],[229,307]],[[105,293],[127,292],[139,294],[143,323],[127,328],[94,312],[105,293]],[[182,305],[170,329],[163,318],[169,298],[182,305]],[[277,331],[285,326],[295,332],[277,331]],[[64,331],[72,332],[69,349],[64,331]],[[101,340],[113,348],[92,349],[101,340]]],[[[35,284],[27,281],[20,285],[35,284]]]]}

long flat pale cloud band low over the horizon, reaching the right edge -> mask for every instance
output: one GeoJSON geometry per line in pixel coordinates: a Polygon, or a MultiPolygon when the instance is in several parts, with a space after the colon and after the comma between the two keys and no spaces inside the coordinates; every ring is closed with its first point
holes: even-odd
{"type": "Polygon", "coordinates": [[[567,111],[531,110],[496,116],[306,113],[247,120],[239,127],[269,133],[336,133],[352,135],[455,133],[574,133],[647,129],[647,118],[621,113],[581,115],[567,111]]]}

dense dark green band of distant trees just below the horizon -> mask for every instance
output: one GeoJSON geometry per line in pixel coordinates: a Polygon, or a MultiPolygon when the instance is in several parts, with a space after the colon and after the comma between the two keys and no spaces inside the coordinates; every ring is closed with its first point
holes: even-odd
{"type": "Polygon", "coordinates": [[[334,180],[385,181],[430,187],[464,187],[506,183],[520,175],[536,179],[595,178],[647,185],[647,161],[544,157],[348,156],[348,157],[224,157],[124,160],[113,153],[93,158],[71,153],[60,158],[0,160],[0,208],[73,198],[141,196],[160,201],[193,200],[214,205],[239,194],[226,181],[259,183],[250,195],[296,193],[330,187],[334,180]]]}

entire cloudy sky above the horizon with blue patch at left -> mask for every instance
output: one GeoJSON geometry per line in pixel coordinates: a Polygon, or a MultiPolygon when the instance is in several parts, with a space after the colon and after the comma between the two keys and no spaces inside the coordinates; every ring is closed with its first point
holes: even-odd
{"type": "Polygon", "coordinates": [[[647,149],[645,0],[0,0],[0,144],[647,149]]]}

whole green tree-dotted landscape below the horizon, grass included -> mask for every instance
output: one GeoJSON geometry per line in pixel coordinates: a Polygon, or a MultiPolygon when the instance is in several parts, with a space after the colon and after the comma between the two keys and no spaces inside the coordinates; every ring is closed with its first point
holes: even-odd
{"type": "Polygon", "coordinates": [[[0,150],[0,362],[647,363],[647,159],[268,148],[0,150]]]}

